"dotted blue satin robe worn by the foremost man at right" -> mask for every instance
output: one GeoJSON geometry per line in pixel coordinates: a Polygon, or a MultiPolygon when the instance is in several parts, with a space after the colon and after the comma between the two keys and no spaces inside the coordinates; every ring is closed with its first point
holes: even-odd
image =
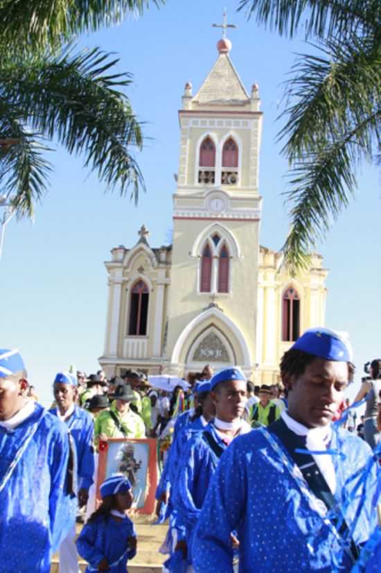
{"type": "MultiPolygon", "coordinates": [[[[238,530],[240,573],[342,573],[351,570],[333,530],[310,507],[308,497],[269,441],[265,429],[236,438],[220,459],[209,486],[193,541],[196,573],[233,573],[230,533],[238,530]]],[[[292,460],[274,436],[291,465],[292,460]]],[[[351,527],[357,500],[347,506],[357,470],[362,470],[371,450],[362,439],[345,430],[333,433],[331,448],[337,489],[335,497],[346,508],[351,527]],[[345,487],[344,487],[345,484],[345,487]]],[[[369,475],[365,504],[353,538],[365,542],[375,527],[375,468],[369,475]]]]}

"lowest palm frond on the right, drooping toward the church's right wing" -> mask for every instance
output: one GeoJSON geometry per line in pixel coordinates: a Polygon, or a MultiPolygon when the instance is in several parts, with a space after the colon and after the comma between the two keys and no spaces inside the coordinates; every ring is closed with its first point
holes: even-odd
{"type": "Polygon", "coordinates": [[[291,230],[283,246],[290,273],[305,266],[317,239],[325,237],[330,222],[348,205],[356,187],[355,164],[362,153],[367,155],[369,143],[373,147],[380,141],[380,120],[381,109],[375,110],[342,139],[302,157],[290,173],[291,230]]]}

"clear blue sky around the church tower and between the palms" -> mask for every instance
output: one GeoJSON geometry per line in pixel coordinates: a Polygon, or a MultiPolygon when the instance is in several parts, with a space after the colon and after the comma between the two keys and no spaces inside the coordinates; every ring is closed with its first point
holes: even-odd
{"type": "MultiPolygon", "coordinates": [[[[282,125],[276,117],[294,53],[308,46],[247,22],[236,12],[238,0],[169,0],[141,19],[130,17],[121,26],[78,39],[81,46],[118,53],[118,70],[134,74],[128,95],[145,122],[147,139],[137,159],[147,193],[137,207],[117,193],[105,194],[96,177],[83,169],[83,158],[57,147],[49,157],[55,166],[51,189],[37,205],[34,223],[13,219],[8,225],[0,261],[2,346],[21,350],[44,404],[51,399],[58,370],[69,364],[87,373],[98,368],[107,302],[103,262],[110,249],[134,245],[142,223],[150,230],[152,246],[168,243],[181,94],[187,81],[195,93],[215,62],[221,32],[211,24],[222,21],[224,6],[229,20],[239,26],[229,33],[231,59],[248,90],[259,84],[264,112],[260,241],[273,249],[283,244],[288,223],[281,194],[287,165],[275,142],[282,125]]],[[[349,332],[357,387],[364,361],[381,356],[380,171],[364,165],[358,176],[351,207],[319,246],[330,269],[326,326],[349,332]]],[[[352,388],[350,394],[354,392],[352,388]]]]}

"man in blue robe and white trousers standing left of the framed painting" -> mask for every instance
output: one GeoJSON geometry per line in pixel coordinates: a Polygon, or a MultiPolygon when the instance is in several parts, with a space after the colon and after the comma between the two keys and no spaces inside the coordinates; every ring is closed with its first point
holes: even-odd
{"type": "MultiPolygon", "coordinates": [[[[91,414],[76,404],[78,398],[77,379],[69,373],[58,373],[53,383],[56,408],[51,413],[64,422],[76,445],[78,462],[78,505],[87,504],[89,488],[93,483],[94,458],[94,422],[91,414]]],[[[76,524],[60,547],[60,573],[77,573],[78,556],[76,548],[76,524]]]]}

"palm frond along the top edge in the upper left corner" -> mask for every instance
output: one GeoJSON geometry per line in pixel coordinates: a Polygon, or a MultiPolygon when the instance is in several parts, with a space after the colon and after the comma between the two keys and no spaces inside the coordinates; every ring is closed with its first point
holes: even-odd
{"type": "Polygon", "coordinates": [[[12,52],[60,48],[85,31],[118,24],[165,0],[1,0],[0,45],[12,52]]]}

